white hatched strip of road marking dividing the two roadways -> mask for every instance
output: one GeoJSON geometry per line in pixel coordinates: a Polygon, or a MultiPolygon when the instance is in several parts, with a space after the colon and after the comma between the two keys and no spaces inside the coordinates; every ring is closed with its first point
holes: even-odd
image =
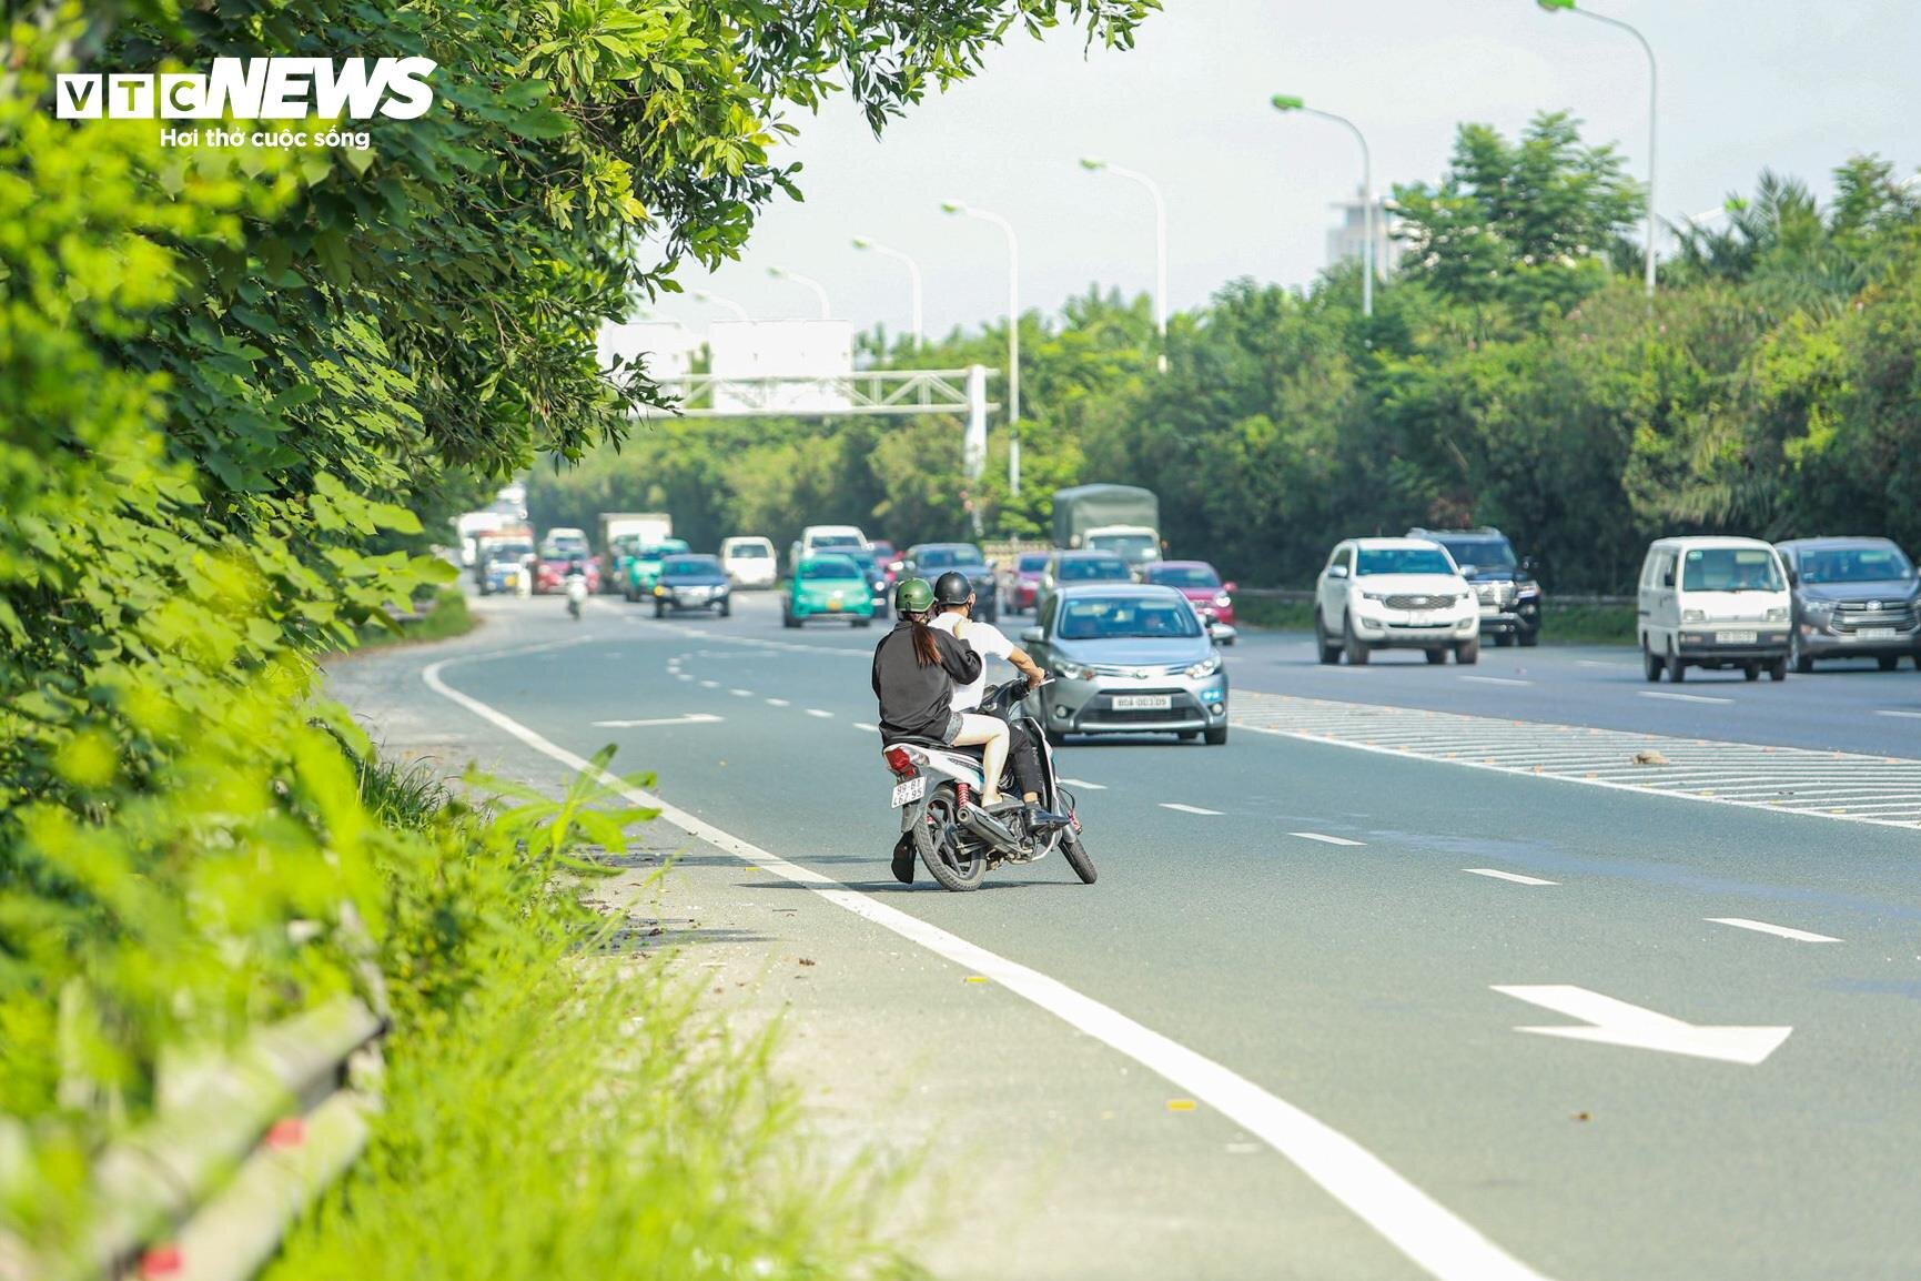
{"type": "Polygon", "coordinates": [[[1254,734],[1383,757],[1740,805],[1775,814],[1921,826],[1921,759],[1596,730],[1377,703],[1235,693],[1254,734]]]}

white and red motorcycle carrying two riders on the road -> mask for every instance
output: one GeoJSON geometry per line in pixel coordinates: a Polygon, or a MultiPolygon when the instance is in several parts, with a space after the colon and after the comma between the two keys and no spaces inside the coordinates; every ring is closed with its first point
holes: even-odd
{"type": "MultiPolygon", "coordinates": [[[[1033,862],[1057,849],[1066,857],[1068,866],[1093,885],[1093,858],[1082,841],[1080,814],[1074,795],[1060,787],[1055,776],[1055,753],[1047,743],[1037,716],[1024,707],[1020,716],[1012,714],[1016,705],[1028,695],[1026,680],[1012,680],[993,686],[982,699],[980,711],[989,716],[1005,716],[1020,724],[1033,736],[1035,751],[1041,757],[1041,809],[1066,814],[1068,824],[1030,832],[1026,807],[1018,801],[987,810],[980,805],[982,759],[980,747],[953,747],[936,739],[905,737],[888,743],[882,759],[893,772],[893,809],[901,810],[901,832],[914,839],[914,853],[926,864],[941,889],[978,889],[982,880],[1003,862],[1033,862]]],[[[1012,793],[1012,782],[1003,778],[1003,789],[1012,793]]]]}

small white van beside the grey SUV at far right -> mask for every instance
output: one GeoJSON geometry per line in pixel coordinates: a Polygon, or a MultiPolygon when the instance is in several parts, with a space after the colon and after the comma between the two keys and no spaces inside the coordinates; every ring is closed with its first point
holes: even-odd
{"type": "Polygon", "coordinates": [[[1758,538],[1660,538],[1641,563],[1639,632],[1646,678],[1690,666],[1788,678],[1788,576],[1758,538]]]}

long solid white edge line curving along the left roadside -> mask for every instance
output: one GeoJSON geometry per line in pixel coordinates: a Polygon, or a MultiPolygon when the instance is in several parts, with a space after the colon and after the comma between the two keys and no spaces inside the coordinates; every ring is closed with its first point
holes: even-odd
{"type": "MultiPolygon", "coordinates": [[[[561,641],[561,645],[567,643],[574,641],[561,641]]],[[[421,672],[421,680],[434,693],[465,707],[567,768],[596,772],[599,782],[617,789],[634,805],[657,809],[661,818],[688,835],[724,849],[763,872],[772,872],[788,882],[805,885],[828,903],[918,943],[968,974],[980,974],[1001,983],[1016,997],[1033,1003],[1070,1027],[1103,1041],[1143,1068],[1166,1077],[1185,1093],[1216,1108],[1247,1133],[1266,1141],[1268,1147],[1291,1160],[1304,1175],[1325,1189],[1329,1196],[1347,1206],[1389,1245],[1414,1260],[1418,1268],[1437,1277],[1437,1281],[1548,1281],[1543,1273],[1456,1218],[1433,1196],[1414,1187],[1414,1183],[1397,1173],[1379,1156],[1285,1099],[1270,1095],[1247,1077],[1133,1022],[1120,1010],[1083,997],[1039,970],[1007,960],[939,926],[930,926],[918,916],[847,889],[811,868],[788,862],[759,845],[722,832],[657,795],[632,787],[605,770],[594,770],[590,761],[549,743],[519,720],[494,711],[480,699],[461,693],[440,680],[440,668],[455,661],[459,659],[430,663],[421,672]]]]}

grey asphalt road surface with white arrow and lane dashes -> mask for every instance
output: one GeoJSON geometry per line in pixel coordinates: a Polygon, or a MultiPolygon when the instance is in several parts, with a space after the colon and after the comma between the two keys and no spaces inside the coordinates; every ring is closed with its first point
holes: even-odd
{"type": "MultiPolygon", "coordinates": [[[[1114,1016],[1076,1024],[1089,1043],[1014,1001],[976,1014],[966,1041],[936,1047],[978,1060],[995,1112],[1012,1118],[999,1170],[1033,1172],[1028,1187],[982,1191],[982,1204],[1020,1202],[1045,1183],[1055,1237],[1053,1252],[1035,1245],[1009,1258],[984,1214],[962,1229],[962,1248],[939,1256],[943,1275],[1921,1275],[1911,830],[1241,728],[1226,747],[1062,751],[1062,774],[1082,782],[1093,887],[1043,860],[974,895],[926,878],[905,889],[886,870],[897,824],[866,688],[878,628],[786,632],[765,595],[742,597],[728,620],[653,620],[617,601],[582,624],[551,599],[480,609],[488,634],[440,678],[503,724],[580,757],[615,743],[617,768],[657,770],[653,791],[670,805],[857,891],[839,906],[903,912],[907,926],[888,926],[888,956],[920,956],[911,931],[934,926],[1026,968],[1005,979],[984,970],[989,985],[1055,1014],[1078,1008],[1037,999],[1022,978],[1032,972],[1114,1016]],[[1143,1051],[1116,1020],[1172,1049],[1143,1051]],[[1185,1064],[1181,1054],[1249,1091],[1214,1089],[1189,1114],[1183,1097],[1206,1072],[1155,1076],[1185,1064]],[[1116,1072],[1131,1072],[1135,1091],[1156,1081],[1149,1093],[1166,1095],[1168,1110],[1139,1108],[1135,1095],[1116,1102],[1116,1072]],[[1285,1124],[1258,1125],[1276,1116],[1285,1124]],[[1218,1143],[1195,1141],[1214,1133],[1193,1129],[1206,1125],[1220,1125],[1218,1143]],[[1064,1189],[1060,1170],[1114,1173],[1110,1185],[1089,1173],[1089,1187],[1064,1189]],[[1402,1187],[1416,1198],[1397,1198],[1402,1187]],[[1493,1254],[1475,1254],[1477,1241],[1493,1254]]],[[[1785,686],[1704,676],[1679,691],[1727,703],[1673,703],[1642,697],[1669,686],[1644,686],[1619,651],[1412,665],[1329,670],[1297,638],[1249,636],[1231,651],[1231,680],[1894,755],[1908,755],[1908,722],[1875,713],[1921,709],[1913,672],[1785,686]]],[[[411,684],[367,686],[361,711],[378,716],[369,697],[474,724],[473,709],[411,684]]],[[[809,906],[822,897],[795,876],[742,883],[809,906]]],[[[820,931],[818,953],[870,947],[855,926],[797,928],[820,931]]],[[[907,1003],[926,997],[891,978],[839,991],[820,1010],[920,1035],[907,1003]]],[[[957,1035],[943,1027],[930,1035],[957,1035]]]]}

